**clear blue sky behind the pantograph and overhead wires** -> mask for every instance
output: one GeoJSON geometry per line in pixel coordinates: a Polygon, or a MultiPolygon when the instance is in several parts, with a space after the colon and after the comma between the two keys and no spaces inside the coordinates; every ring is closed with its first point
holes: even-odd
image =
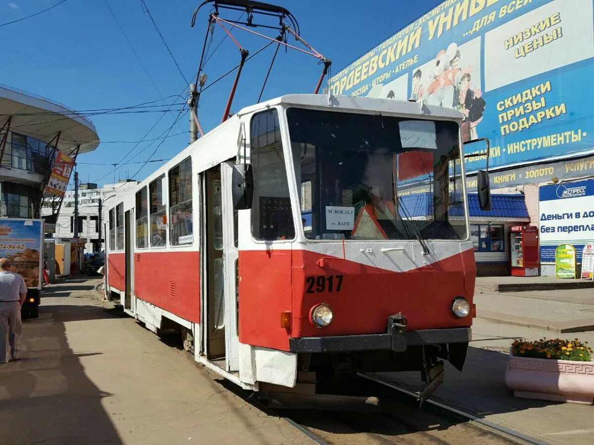
{"type": "MultiPolygon", "coordinates": [[[[184,98],[178,98],[178,102],[185,101],[187,85],[140,1],[107,1],[156,88],[113,20],[105,0],[67,0],[37,17],[0,27],[0,41],[5,43],[0,67],[2,83],[77,110],[125,107],[180,93],[184,98]]],[[[191,79],[200,62],[208,8],[199,11],[196,25],[191,28],[192,12],[202,0],[145,2],[182,72],[188,80],[191,79]]],[[[34,14],[56,3],[58,0],[0,0],[0,23],[34,14]]],[[[277,0],[275,3],[295,15],[301,26],[301,36],[318,52],[332,59],[332,71],[337,72],[440,1],[277,0]]],[[[225,14],[232,17],[230,11],[225,14]]],[[[258,28],[258,31],[263,30],[258,28]]],[[[223,33],[220,28],[214,32],[211,52],[222,40],[223,33]]],[[[274,31],[268,31],[267,35],[274,37],[274,31]]],[[[251,53],[266,43],[241,30],[233,31],[233,36],[251,53]]],[[[295,43],[295,40],[289,43],[295,43]]],[[[273,46],[268,47],[246,63],[232,110],[257,101],[273,52],[273,46]]],[[[226,39],[208,61],[205,72],[209,80],[214,80],[238,62],[237,47],[226,39]]],[[[287,93],[312,93],[320,73],[321,67],[311,56],[293,50],[285,53],[281,49],[263,100],[287,93]]],[[[229,75],[201,97],[198,113],[205,131],[220,123],[232,81],[233,75],[229,75]]],[[[166,98],[162,103],[170,104],[173,100],[166,98]]],[[[167,131],[176,115],[177,112],[163,116],[147,139],[157,138],[167,131]]],[[[91,120],[102,142],[138,141],[160,116],[159,113],[140,113],[94,116],[91,120]]],[[[168,159],[187,146],[188,119],[189,114],[185,113],[170,132],[170,135],[179,135],[165,139],[153,159],[168,159]]],[[[147,160],[158,143],[138,145],[131,161],[147,160]]],[[[134,145],[102,143],[96,151],[81,155],[78,158],[80,180],[100,184],[113,182],[113,167],[99,164],[121,160],[134,145]]],[[[163,162],[149,163],[138,173],[142,164],[127,164],[118,168],[115,177],[116,180],[118,177],[124,179],[127,174],[137,173],[134,179],[141,180],[161,164],[163,162]]]]}

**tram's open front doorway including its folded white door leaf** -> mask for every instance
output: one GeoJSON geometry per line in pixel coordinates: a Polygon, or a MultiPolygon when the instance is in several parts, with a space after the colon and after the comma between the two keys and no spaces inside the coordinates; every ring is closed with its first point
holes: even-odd
{"type": "Polygon", "coordinates": [[[203,174],[203,293],[201,349],[225,371],[239,369],[233,206],[230,198],[232,167],[226,163],[203,174]]]}

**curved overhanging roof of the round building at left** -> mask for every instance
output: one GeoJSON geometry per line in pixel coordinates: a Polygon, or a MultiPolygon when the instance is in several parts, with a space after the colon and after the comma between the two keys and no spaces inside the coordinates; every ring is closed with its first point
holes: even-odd
{"type": "Polygon", "coordinates": [[[64,104],[0,85],[0,125],[12,116],[11,131],[49,143],[61,132],[58,150],[69,154],[95,150],[99,136],[93,123],[64,104]]]}

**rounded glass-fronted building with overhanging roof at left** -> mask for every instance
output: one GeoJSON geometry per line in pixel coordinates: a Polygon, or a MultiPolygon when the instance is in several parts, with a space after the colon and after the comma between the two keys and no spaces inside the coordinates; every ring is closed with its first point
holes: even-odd
{"type": "Polygon", "coordinates": [[[64,104],[0,85],[0,214],[40,218],[43,213],[53,227],[63,192],[51,181],[56,167],[62,177],[70,173],[56,159],[75,159],[98,145],[86,117],[64,104]]]}

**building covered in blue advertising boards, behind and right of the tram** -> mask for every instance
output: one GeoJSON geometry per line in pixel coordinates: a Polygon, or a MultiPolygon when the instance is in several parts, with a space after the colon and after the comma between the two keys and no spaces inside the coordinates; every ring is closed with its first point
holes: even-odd
{"type": "MultiPolygon", "coordinates": [[[[465,158],[466,191],[476,192],[476,172],[488,166],[494,196],[516,196],[510,198],[514,205],[517,196],[523,201],[505,221],[496,211],[475,221],[470,206],[479,272],[510,272],[510,227],[538,227],[542,275],[555,274],[559,243],[570,240],[579,251],[594,242],[594,210],[586,208],[591,186],[580,182],[594,178],[586,81],[594,75],[593,3],[446,0],[401,30],[386,30],[395,33],[330,79],[334,96],[460,111],[465,154],[471,155],[465,158]],[[542,187],[552,188],[544,193],[542,187]],[[574,201],[578,197],[583,199],[574,201]]],[[[431,174],[426,176],[399,190],[426,193],[431,174]]]]}

